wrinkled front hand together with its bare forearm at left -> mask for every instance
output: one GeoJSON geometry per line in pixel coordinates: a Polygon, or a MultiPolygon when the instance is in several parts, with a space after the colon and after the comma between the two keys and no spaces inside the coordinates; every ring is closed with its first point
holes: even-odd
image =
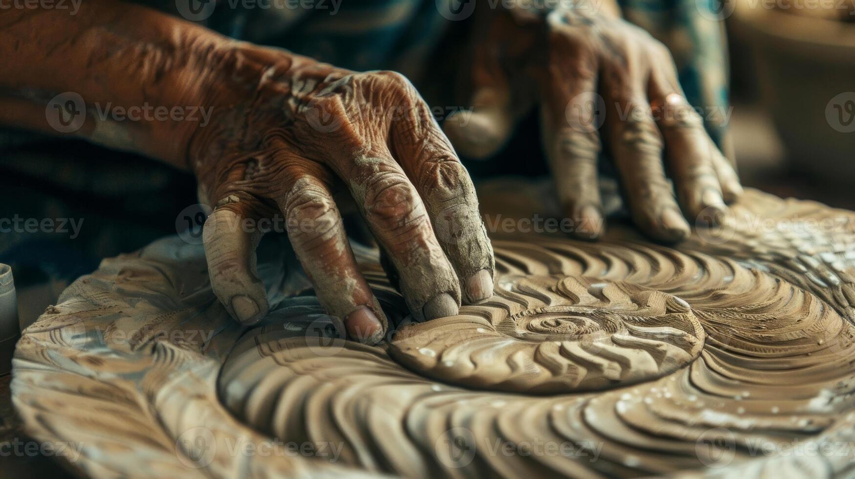
{"type": "Polygon", "coordinates": [[[461,296],[492,295],[472,182],[400,75],[333,68],[113,0],[88,0],[74,16],[12,9],[0,26],[0,66],[11,72],[0,75],[0,123],[192,170],[213,208],[204,228],[211,284],[240,321],[268,310],[254,250],[271,225],[262,220],[284,217],[327,312],[355,339],[383,334],[333,201],[339,191],[398,269],[416,319],[456,314],[461,296]]]}

